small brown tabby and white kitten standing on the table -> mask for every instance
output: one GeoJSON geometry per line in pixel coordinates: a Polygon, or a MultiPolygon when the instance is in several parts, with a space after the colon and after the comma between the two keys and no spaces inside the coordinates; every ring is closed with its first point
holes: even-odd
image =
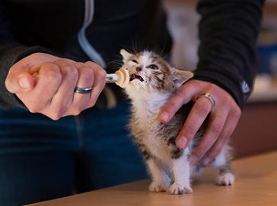
{"type": "MultiPolygon", "coordinates": [[[[197,145],[208,119],[186,149],[179,149],[175,138],[183,126],[192,103],[184,105],[167,124],[158,120],[159,109],[174,91],[192,78],[193,73],[170,67],[168,63],[153,52],[129,54],[120,51],[123,67],[128,69],[130,83],[126,93],[131,99],[131,119],[129,128],[135,143],[140,148],[151,174],[149,190],[168,191],[170,194],[191,193],[190,179],[202,168],[201,163],[190,165],[188,155],[197,145]]],[[[217,183],[232,185],[234,176],[231,168],[230,146],[227,144],[211,163],[219,169],[217,183]]]]}

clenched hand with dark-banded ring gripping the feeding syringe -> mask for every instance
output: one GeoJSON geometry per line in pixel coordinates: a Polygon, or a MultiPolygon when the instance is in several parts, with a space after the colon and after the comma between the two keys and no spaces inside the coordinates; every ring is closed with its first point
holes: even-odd
{"type": "Polygon", "coordinates": [[[75,62],[49,54],[35,53],[10,68],[5,87],[32,113],[51,119],[78,115],[96,104],[104,89],[106,71],[93,62],[75,62]],[[75,93],[76,87],[89,94],[75,93]]]}

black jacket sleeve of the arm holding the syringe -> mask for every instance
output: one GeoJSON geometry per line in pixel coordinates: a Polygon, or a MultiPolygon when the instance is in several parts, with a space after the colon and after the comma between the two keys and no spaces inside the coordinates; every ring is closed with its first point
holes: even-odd
{"type": "MultiPolygon", "coordinates": [[[[20,17],[19,17],[20,18],[20,17]]],[[[12,108],[15,106],[25,108],[16,95],[5,89],[5,78],[10,67],[25,56],[36,52],[51,54],[49,50],[38,46],[26,46],[16,41],[9,31],[8,16],[5,14],[5,6],[0,0],[0,107],[12,108]]]]}

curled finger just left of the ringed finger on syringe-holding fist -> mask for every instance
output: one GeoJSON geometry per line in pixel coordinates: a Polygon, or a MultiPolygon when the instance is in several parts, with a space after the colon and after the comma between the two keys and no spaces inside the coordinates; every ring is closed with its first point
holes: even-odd
{"type": "Polygon", "coordinates": [[[63,117],[73,101],[74,89],[78,80],[78,69],[67,60],[56,60],[54,62],[60,68],[62,81],[58,91],[52,98],[50,110],[56,116],[54,119],[63,117]]]}

